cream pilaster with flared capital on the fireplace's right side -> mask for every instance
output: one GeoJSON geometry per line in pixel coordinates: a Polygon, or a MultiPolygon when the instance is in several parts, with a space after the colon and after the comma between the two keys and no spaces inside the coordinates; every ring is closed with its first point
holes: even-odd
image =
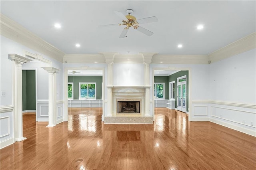
{"type": "MultiPolygon", "coordinates": [[[[144,59],[144,81],[146,86],[150,86],[150,70],[149,65],[152,61],[152,56],[155,53],[140,53],[144,59]]],[[[151,87],[151,86],[150,86],[151,87]]],[[[150,87],[145,88],[145,115],[150,116],[150,87]]]]}

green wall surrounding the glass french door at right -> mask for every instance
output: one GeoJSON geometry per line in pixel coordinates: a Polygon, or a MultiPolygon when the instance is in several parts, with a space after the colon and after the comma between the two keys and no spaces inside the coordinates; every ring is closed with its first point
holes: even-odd
{"type": "MultiPolygon", "coordinates": [[[[188,93],[188,71],[179,71],[177,73],[174,73],[168,76],[168,82],[175,81],[175,108],[177,108],[177,78],[184,75],[187,76],[187,93],[188,93]]],[[[187,102],[187,111],[188,111],[188,96],[187,96],[186,102],[187,102]]]]}

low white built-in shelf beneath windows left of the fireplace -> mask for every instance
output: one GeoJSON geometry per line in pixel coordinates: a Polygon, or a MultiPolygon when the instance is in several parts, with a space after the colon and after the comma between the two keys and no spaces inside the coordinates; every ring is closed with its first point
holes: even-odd
{"type": "Polygon", "coordinates": [[[68,100],[68,107],[102,107],[102,100],[68,100]]]}

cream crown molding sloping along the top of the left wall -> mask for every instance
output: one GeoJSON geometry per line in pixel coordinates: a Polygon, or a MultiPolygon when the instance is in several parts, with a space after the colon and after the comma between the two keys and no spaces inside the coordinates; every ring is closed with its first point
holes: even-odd
{"type": "Polygon", "coordinates": [[[65,54],[7,16],[0,14],[1,35],[62,62],[65,54]]]}

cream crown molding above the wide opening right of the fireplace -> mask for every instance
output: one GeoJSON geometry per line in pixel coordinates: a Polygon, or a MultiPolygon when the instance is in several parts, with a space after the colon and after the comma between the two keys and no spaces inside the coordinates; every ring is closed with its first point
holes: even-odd
{"type": "Polygon", "coordinates": [[[152,63],[156,64],[206,64],[209,59],[207,55],[153,55],[152,63]]]}

